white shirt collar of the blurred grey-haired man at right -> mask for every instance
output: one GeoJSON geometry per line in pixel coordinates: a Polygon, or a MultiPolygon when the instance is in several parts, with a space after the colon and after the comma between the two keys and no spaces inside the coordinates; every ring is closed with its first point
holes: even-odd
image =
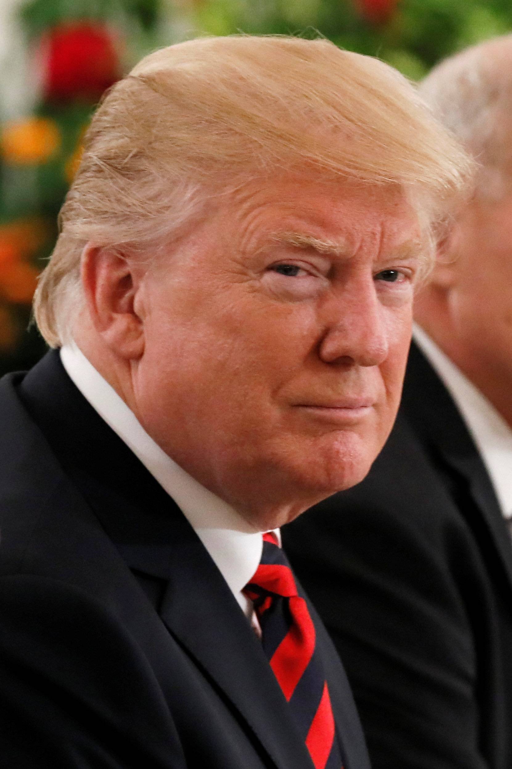
{"type": "Polygon", "coordinates": [[[504,518],[512,519],[512,429],[493,404],[415,325],[413,338],[437,371],[473,436],[496,492],[504,518]]]}

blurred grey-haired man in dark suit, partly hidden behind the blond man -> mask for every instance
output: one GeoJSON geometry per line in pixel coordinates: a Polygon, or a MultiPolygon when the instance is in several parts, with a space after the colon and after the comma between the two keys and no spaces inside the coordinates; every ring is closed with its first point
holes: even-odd
{"type": "Polygon", "coordinates": [[[477,192],[418,294],[384,451],[285,545],[375,769],[510,769],[512,37],[449,58],[421,93],[478,159],[477,192]]]}

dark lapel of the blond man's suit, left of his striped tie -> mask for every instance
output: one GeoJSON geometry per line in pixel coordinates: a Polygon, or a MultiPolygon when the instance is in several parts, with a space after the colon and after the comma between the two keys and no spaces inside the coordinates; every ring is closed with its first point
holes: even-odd
{"type": "Polygon", "coordinates": [[[170,633],[276,767],[311,769],[263,648],[183,513],[74,387],[57,354],[36,369],[19,388],[25,406],[127,565],[167,581],[160,617],[170,633]]]}

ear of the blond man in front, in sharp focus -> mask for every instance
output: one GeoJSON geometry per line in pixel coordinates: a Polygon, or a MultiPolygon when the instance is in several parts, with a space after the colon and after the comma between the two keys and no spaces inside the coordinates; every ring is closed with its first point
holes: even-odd
{"type": "Polygon", "coordinates": [[[91,321],[107,347],[121,358],[144,352],[144,323],[136,303],[143,271],[114,248],[88,243],[81,256],[81,280],[91,321]]]}

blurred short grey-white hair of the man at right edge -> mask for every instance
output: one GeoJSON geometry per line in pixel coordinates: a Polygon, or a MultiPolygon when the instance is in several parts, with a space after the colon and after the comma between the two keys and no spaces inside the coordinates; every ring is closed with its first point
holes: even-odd
{"type": "Polygon", "coordinates": [[[512,35],[465,48],[434,67],[419,93],[477,158],[477,195],[495,200],[512,183],[512,35]]]}

